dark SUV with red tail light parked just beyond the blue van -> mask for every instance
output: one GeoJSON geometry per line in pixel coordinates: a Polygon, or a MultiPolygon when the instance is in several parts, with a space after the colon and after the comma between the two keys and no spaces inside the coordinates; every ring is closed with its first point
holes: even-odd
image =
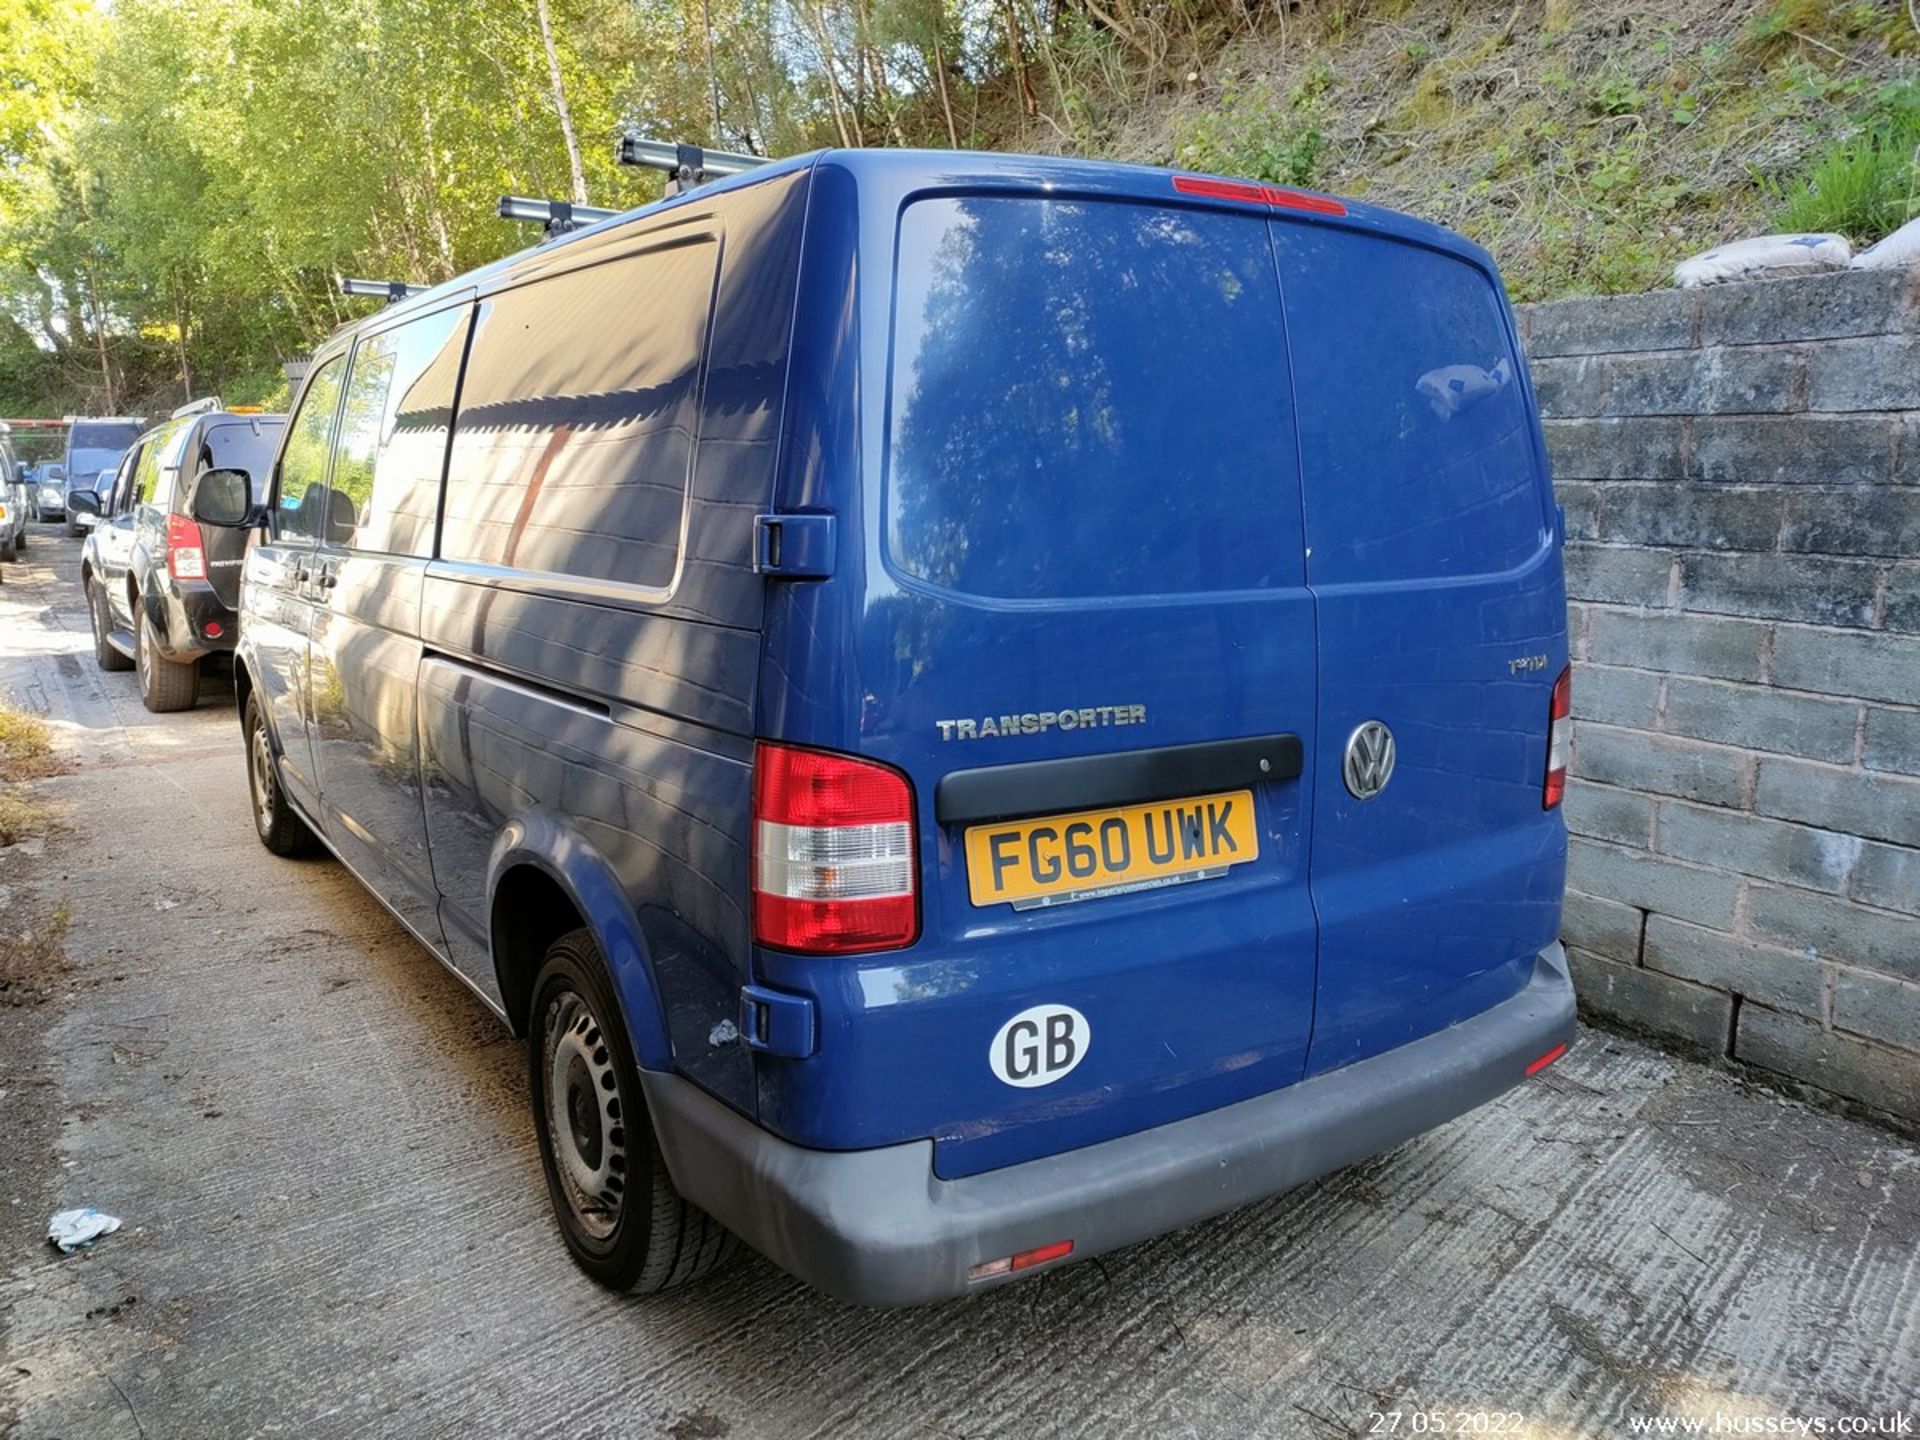
{"type": "MultiPolygon", "coordinates": [[[[102,670],[140,672],[150,710],[186,710],[200,699],[200,662],[228,653],[238,630],[246,534],[202,530],[186,497],[202,470],[246,470],[255,499],[280,445],[284,415],[184,405],[140,436],[113,478],[100,522],[81,547],[81,584],[102,670]]],[[[98,507],[71,492],[81,511],[98,507]]]]}

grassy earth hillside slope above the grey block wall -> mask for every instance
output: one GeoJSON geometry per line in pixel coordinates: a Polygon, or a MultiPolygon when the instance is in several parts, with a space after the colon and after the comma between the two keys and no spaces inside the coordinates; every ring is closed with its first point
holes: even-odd
{"type": "Polygon", "coordinates": [[[1488,246],[1532,300],[1665,284],[1676,259],[1776,225],[1780,192],[1826,146],[1920,125],[1920,13],[1910,0],[1294,0],[1162,73],[1146,100],[1085,86],[1071,127],[1031,123],[1016,144],[1405,209],[1488,246]]]}

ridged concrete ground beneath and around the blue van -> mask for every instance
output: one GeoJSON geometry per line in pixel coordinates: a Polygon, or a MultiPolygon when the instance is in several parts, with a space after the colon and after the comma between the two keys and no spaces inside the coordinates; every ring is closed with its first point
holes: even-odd
{"type": "Polygon", "coordinates": [[[35,785],[63,829],[0,851],[0,929],[73,912],[52,996],[0,1006],[0,1432],[1613,1436],[1920,1402],[1916,1152],[1601,1033],[1390,1156],[979,1300],[862,1311],[755,1256],[595,1290],[518,1048],[336,864],[255,843],[230,691],[150,716],[94,668],[77,553],[40,528],[0,586],[0,693],[73,758],[35,785]],[[127,1227],[61,1260],[77,1204],[127,1227]]]}

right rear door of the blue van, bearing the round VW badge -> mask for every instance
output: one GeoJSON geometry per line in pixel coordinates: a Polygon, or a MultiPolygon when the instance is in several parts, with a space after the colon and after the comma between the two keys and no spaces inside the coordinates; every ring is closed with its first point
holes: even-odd
{"type": "Polygon", "coordinates": [[[1273,230],[1319,616],[1317,1073],[1505,998],[1551,943],[1565,835],[1542,783],[1567,603],[1492,275],[1357,228],[1273,230]],[[1363,799],[1344,768],[1369,722],[1394,768],[1363,799]]]}

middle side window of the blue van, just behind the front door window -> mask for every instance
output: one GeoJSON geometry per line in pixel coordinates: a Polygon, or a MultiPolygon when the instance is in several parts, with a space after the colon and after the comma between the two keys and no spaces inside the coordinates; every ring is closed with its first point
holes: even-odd
{"type": "Polygon", "coordinates": [[[422,559],[434,553],[467,313],[424,315],[353,349],[326,543],[422,559]]]}

